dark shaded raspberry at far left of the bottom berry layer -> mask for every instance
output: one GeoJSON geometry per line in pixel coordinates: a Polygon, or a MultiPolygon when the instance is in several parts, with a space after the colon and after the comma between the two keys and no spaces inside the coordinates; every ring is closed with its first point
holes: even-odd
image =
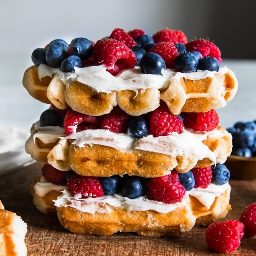
{"type": "Polygon", "coordinates": [[[42,174],[47,182],[52,182],[56,185],[65,183],[65,172],[59,171],[50,164],[45,164],[42,167],[42,174]]]}

